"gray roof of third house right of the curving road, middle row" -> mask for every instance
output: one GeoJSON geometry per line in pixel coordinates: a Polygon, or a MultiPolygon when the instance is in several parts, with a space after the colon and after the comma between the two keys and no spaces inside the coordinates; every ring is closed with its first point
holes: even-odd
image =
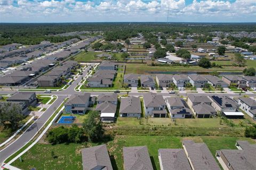
{"type": "Polygon", "coordinates": [[[119,113],[141,113],[140,98],[134,96],[122,98],[119,113]]]}

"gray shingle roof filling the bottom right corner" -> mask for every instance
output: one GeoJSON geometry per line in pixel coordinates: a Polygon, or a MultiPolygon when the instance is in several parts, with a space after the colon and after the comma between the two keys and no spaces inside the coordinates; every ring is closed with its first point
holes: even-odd
{"type": "Polygon", "coordinates": [[[221,149],[220,155],[225,156],[234,170],[256,169],[256,145],[251,145],[248,141],[237,141],[237,143],[243,147],[243,150],[221,149]]]}

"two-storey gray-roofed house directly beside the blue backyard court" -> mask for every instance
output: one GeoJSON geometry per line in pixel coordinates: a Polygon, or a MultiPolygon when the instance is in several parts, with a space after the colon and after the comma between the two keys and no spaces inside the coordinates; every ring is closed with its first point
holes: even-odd
{"type": "Polygon", "coordinates": [[[73,114],[85,114],[87,107],[90,105],[89,93],[83,95],[73,95],[68,98],[65,104],[65,112],[73,114]]]}

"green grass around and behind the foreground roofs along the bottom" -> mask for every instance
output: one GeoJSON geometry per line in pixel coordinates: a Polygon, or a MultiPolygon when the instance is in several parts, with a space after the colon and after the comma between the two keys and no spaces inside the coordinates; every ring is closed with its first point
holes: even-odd
{"type": "MultiPolygon", "coordinates": [[[[205,142],[212,155],[219,149],[236,149],[236,140],[248,140],[249,138],[236,137],[163,137],[163,136],[116,136],[113,141],[107,142],[107,147],[113,168],[123,169],[123,147],[147,146],[154,169],[159,170],[158,149],[182,148],[182,140],[190,139],[195,142],[205,142]]],[[[13,166],[21,169],[82,169],[81,149],[100,145],[102,143],[69,143],[60,145],[49,145],[37,143],[25,155],[23,160],[15,160],[13,166]],[[52,157],[52,153],[55,158],[52,157]]]]}

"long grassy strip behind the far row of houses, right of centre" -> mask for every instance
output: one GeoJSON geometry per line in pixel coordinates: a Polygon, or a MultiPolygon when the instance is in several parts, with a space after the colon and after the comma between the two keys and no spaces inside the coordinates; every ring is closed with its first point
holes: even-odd
{"type": "Polygon", "coordinates": [[[230,72],[242,72],[243,67],[223,67],[223,68],[212,68],[212,69],[204,69],[199,66],[151,66],[148,64],[138,64],[138,63],[126,63],[125,74],[129,73],[137,73],[137,74],[150,74],[151,72],[156,73],[168,73],[168,72],[211,72],[211,71],[230,71],[230,72]]]}

